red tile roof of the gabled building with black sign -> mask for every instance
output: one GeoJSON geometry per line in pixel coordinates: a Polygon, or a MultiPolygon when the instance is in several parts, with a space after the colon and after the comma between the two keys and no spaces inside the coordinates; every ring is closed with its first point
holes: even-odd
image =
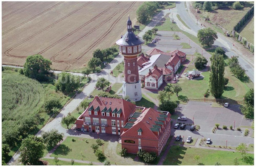
{"type": "MultiPolygon", "coordinates": [[[[159,112],[154,110],[153,108],[146,108],[142,111],[141,115],[136,118],[137,120],[134,122],[133,126],[124,131],[121,134],[122,136],[134,136],[136,135],[138,129],[142,130],[143,136],[146,138],[153,138],[153,139],[159,139],[161,137],[161,133],[163,132],[163,128],[161,128],[161,132],[159,131],[159,135],[157,135],[157,132],[153,132],[150,128],[153,128],[152,125],[156,125],[155,121],[159,121],[157,117],[159,117],[159,112]],[[135,133],[135,134],[134,134],[135,133]]],[[[167,123],[170,121],[170,114],[168,113],[166,118],[166,124],[164,125],[164,128],[167,127],[167,123]]]]}

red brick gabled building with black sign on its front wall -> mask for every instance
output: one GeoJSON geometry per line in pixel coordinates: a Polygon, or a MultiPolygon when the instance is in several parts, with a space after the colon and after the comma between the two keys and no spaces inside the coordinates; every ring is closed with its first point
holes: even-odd
{"type": "Polygon", "coordinates": [[[169,112],[158,112],[153,108],[133,113],[121,134],[122,148],[129,153],[143,149],[159,155],[170,137],[170,122],[169,112]]]}

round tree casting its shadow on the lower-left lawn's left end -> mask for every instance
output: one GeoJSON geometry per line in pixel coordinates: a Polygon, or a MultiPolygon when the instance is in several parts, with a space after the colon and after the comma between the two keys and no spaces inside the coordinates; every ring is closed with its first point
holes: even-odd
{"type": "Polygon", "coordinates": [[[54,147],[58,142],[63,141],[64,133],[59,133],[57,129],[52,129],[48,132],[42,132],[44,143],[48,146],[54,147]]]}

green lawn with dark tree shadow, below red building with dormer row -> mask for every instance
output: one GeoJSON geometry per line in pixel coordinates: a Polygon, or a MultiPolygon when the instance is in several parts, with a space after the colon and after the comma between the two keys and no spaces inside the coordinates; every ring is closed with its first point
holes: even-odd
{"type": "MultiPolygon", "coordinates": [[[[104,148],[108,147],[108,141],[103,141],[104,148]]],[[[97,157],[94,155],[94,152],[91,148],[92,144],[96,144],[96,139],[85,139],[79,137],[70,137],[68,136],[60,146],[51,154],[51,157],[59,158],[69,158],[84,161],[100,162],[97,157]],[[74,141],[72,141],[74,139],[74,141]],[[86,142],[88,141],[88,143],[86,142]]],[[[102,150],[102,146],[99,147],[102,150]]]]}

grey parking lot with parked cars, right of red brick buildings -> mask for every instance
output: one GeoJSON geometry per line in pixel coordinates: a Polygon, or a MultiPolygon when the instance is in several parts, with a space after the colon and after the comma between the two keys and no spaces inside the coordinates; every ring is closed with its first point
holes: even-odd
{"type": "Polygon", "coordinates": [[[226,125],[229,127],[232,125],[235,128],[240,126],[251,126],[252,121],[243,119],[243,115],[240,112],[239,105],[229,105],[224,108],[211,107],[211,103],[204,102],[192,102],[189,101],[185,107],[182,107],[181,116],[186,116],[187,120],[173,120],[174,122],[200,125],[199,131],[190,131],[190,126],[186,126],[185,129],[177,129],[172,127],[173,135],[184,136],[186,140],[188,136],[192,138],[198,138],[196,145],[200,142],[201,138],[211,138],[212,145],[226,146],[227,145],[237,147],[240,143],[254,143],[254,138],[244,137],[242,131],[237,130],[217,130],[216,133],[212,133],[212,129],[215,123],[219,123],[220,127],[226,125]]]}

